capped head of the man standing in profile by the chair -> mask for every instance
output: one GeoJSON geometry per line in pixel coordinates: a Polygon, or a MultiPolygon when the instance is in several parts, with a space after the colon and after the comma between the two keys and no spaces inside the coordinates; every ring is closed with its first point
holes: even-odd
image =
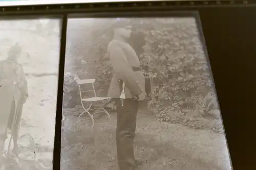
{"type": "Polygon", "coordinates": [[[118,20],[114,23],[114,36],[118,36],[124,39],[130,38],[132,34],[132,27],[127,19],[118,20]]]}

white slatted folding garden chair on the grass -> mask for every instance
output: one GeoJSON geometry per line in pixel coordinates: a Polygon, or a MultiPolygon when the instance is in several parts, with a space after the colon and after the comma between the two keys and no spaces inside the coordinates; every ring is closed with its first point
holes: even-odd
{"type": "Polygon", "coordinates": [[[103,107],[94,107],[92,108],[92,106],[94,106],[93,104],[94,103],[98,103],[100,101],[104,101],[104,100],[109,100],[111,98],[102,98],[102,97],[98,97],[96,95],[96,91],[95,91],[95,88],[94,88],[94,83],[95,83],[95,79],[84,79],[84,80],[80,80],[78,77],[76,77],[76,83],[78,84],[78,87],[79,87],[79,93],[80,93],[80,100],[81,100],[81,104],[82,104],[82,108],[83,108],[83,112],[79,115],[78,117],[78,120],[79,118],[81,117],[81,115],[83,113],[88,113],[90,118],[92,119],[92,122],[93,122],[93,125],[94,125],[94,118],[93,118],[93,115],[96,114],[96,113],[106,113],[108,114],[109,118],[110,118],[110,114],[108,111],[106,111],[103,107]],[[81,90],[81,85],[89,85],[91,84],[91,90],[85,90],[85,91],[82,91],[81,90]],[[83,98],[82,97],[82,93],[84,92],[94,92],[94,96],[91,97],[91,98],[83,98]],[[86,107],[84,106],[84,103],[89,103],[89,107],[86,107]],[[94,113],[90,113],[91,111],[94,111],[94,113]]]}

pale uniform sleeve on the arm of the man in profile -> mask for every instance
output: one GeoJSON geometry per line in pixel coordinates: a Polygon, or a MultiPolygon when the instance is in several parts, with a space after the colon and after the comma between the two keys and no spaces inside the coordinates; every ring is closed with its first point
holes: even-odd
{"type": "Polygon", "coordinates": [[[125,83],[125,86],[133,95],[140,95],[142,90],[136,81],[132,67],[126,62],[126,56],[122,48],[118,44],[110,44],[108,51],[112,67],[118,78],[125,83]]]}

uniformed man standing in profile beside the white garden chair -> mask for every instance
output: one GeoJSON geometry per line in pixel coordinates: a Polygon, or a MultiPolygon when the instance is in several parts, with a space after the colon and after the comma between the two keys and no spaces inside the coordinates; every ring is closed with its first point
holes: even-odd
{"type": "Polygon", "coordinates": [[[113,30],[114,38],[108,46],[108,54],[114,76],[108,96],[113,98],[117,105],[118,166],[120,170],[132,170],[141,164],[134,157],[134,136],[138,101],[145,98],[145,79],[137,54],[126,42],[132,32],[129,21],[117,21],[113,30]]]}

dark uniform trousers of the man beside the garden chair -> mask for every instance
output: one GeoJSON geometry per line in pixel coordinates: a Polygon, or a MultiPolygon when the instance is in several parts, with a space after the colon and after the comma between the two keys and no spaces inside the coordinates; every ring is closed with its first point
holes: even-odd
{"type": "Polygon", "coordinates": [[[119,170],[132,170],[135,164],[134,136],[138,101],[124,99],[123,106],[120,99],[115,99],[117,107],[116,146],[119,170]]]}

